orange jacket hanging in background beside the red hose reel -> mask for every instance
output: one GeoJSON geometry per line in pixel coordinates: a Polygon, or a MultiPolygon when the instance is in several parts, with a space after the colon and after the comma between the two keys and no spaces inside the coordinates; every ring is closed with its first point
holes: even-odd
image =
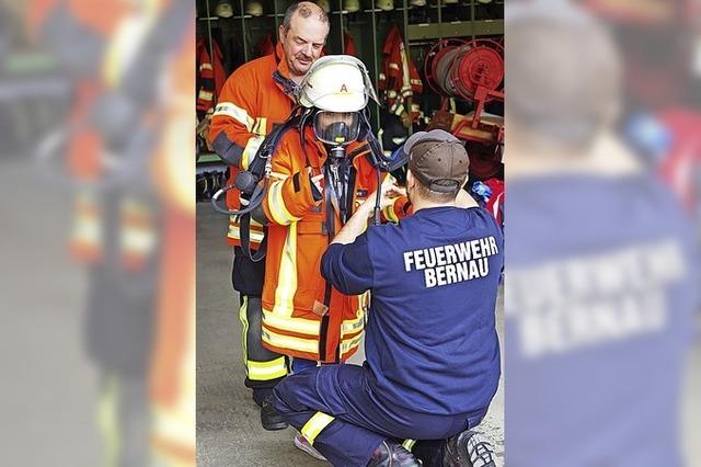
{"type": "Polygon", "coordinates": [[[414,123],[423,117],[420,105],[423,83],[404,48],[404,39],[397,24],[390,29],[382,46],[382,71],[378,88],[390,113],[401,116],[411,112],[414,123]]]}

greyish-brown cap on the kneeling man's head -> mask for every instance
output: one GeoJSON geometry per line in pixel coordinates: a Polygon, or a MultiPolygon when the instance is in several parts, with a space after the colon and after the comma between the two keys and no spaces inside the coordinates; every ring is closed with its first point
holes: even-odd
{"type": "Polygon", "coordinates": [[[443,129],[417,132],[406,139],[409,169],[422,185],[450,193],[462,186],[470,160],[462,143],[443,129]]]}

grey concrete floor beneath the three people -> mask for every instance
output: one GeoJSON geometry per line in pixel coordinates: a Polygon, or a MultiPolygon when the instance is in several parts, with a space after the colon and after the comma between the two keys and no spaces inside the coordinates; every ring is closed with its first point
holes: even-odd
{"type": "MultiPolygon", "coordinates": [[[[239,299],[231,288],[232,252],[223,238],[227,221],[208,203],[197,205],[197,465],[327,465],[292,445],[294,429],[263,430],[251,390],[243,386],[239,299]]],[[[503,334],[501,306],[498,317],[503,334]]],[[[482,428],[503,456],[502,386],[482,428]]]]}

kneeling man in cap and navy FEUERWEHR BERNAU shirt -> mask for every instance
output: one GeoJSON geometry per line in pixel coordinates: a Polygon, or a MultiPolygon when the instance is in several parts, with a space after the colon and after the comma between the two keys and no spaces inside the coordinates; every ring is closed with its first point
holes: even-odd
{"type": "MultiPolygon", "coordinates": [[[[469,160],[458,139],[421,132],[404,150],[413,215],[363,234],[369,196],[321,264],[344,294],[371,291],[367,361],[310,368],[275,389],[281,415],[336,466],[472,466],[484,454],[469,430],[499,378],[502,231],[461,190],[469,160]],[[399,444],[407,438],[444,441],[418,442],[414,457],[399,444]]],[[[486,457],[475,465],[495,465],[486,457]]]]}

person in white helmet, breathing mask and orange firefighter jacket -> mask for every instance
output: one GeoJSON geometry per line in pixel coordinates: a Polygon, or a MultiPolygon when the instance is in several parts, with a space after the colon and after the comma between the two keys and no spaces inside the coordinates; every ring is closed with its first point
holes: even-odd
{"type": "MultiPolygon", "coordinates": [[[[292,371],[338,363],[357,350],[368,297],[347,296],[320,274],[329,242],[378,187],[365,114],[375,96],[363,62],[325,56],[301,84],[299,125],[272,157],[266,196],[254,216],[268,221],[263,345],[294,357],[292,371]]],[[[384,215],[407,206],[398,198],[384,215]]]]}

